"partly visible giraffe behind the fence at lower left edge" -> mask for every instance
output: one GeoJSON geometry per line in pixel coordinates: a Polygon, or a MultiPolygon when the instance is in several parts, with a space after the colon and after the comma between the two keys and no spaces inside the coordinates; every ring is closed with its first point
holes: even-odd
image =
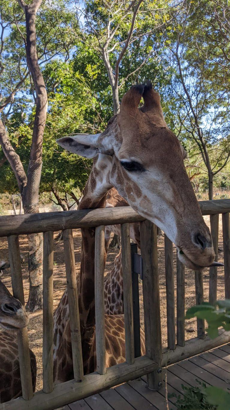
{"type": "MultiPolygon", "coordinates": [[[[24,307],[0,280],[0,403],[22,396],[16,332],[28,323],[24,307]]],[[[31,350],[29,353],[35,391],[36,358],[31,350]]]]}

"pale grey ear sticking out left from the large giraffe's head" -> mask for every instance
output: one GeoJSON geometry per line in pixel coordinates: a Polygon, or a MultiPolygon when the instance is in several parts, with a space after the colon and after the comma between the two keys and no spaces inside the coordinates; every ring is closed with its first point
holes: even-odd
{"type": "Polygon", "coordinates": [[[99,153],[112,155],[112,147],[106,147],[103,144],[105,143],[105,139],[100,138],[100,136],[101,134],[75,134],[59,138],[56,142],[65,150],[85,158],[93,158],[99,153]]]}

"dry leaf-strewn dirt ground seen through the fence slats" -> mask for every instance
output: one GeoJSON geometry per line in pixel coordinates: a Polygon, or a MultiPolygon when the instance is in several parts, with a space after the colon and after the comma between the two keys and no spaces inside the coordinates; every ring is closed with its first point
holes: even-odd
{"type": "MultiPolygon", "coordinates": [[[[205,216],[205,222],[209,225],[209,217],[205,216]]],[[[57,236],[55,233],[54,237],[57,236]]],[[[78,274],[80,269],[80,244],[81,234],[80,230],[74,230],[74,249],[75,249],[75,261],[76,261],[76,273],[78,274]]],[[[219,262],[223,262],[223,238],[222,238],[222,223],[221,217],[219,218],[219,262]]],[[[20,252],[25,256],[25,264],[22,265],[23,285],[25,292],[25,300],[27,301],[29,294],[29,280],[27,271],[27,254],[28,246],[25,236],[20,237],[20,252]]],[[[105,275],[112,269],[114,258],[117,255],[118,250],[113,248],[109,251],[107,263],[105,267],[105,275]]],[[[7,239],[0,238],[0,260],[8,258],[7,239]]],[[[160,303],[161,303],[161,333],[162,333],[162,345],[167,346],[167,321],[166,321],[166,290],[165,290],[165,261],[164,261],[164,239],[158,238],[158,258],[159,258],[159,283],[160,283],[160,303]]],[[[174,248],[174,273],[176,273],[176,248],[174,248]]],[[[6,271],[5,271],[6,272],[6,271]]],[[[175,289],[175,303],[176,303],[176,275],[174,275],[174,289],[175,289]]],[[[203,285],[204,285],[204,297],[205,301],[208,301],[208,289],[209,289],[209,275],[208,269],[203,273],[203,285]]],[[[9,270],[1,277],[4,284],[11,290],[11,277],[9,270]]],[[[54,309],[57,307],[58,302],[65,290],[66,278],[65,278],[65,264],[64,264],[64,252],[63,242],[54,241],[54,309]]],[[[139,293],[140,293],[140,317],[141,327],[144,328],[143,318],[143,294],[141,280],[139,280],[139,293]]],[[[217,298],[224,298],[224,274],[223,268],[218,268],[218,289],[217,298]]],[[[195,304],[195,283],[194,272],[185,269],[185,309],[195,304]]],[[[36,390],[42,389],[42,311],[38,311],[30,314],[29,322],[29,346],[36,355],[37,360],[37,383],[36,390]]],[[[191,339],[196,336],[196,321],[195,319],[186,320],[185,323],[185,339],[191,339]]]]}

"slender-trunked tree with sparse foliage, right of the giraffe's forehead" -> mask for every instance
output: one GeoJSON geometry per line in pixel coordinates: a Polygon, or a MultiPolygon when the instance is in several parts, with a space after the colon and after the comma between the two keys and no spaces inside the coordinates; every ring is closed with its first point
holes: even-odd
{"type": "MultiPolygon", "coordinates": [[[[174,69],[171,81],[177,110],[174,125],[182,141],[191,139],[199,149],[208,173],[209,199],[213,199],[214,176],[230,159],[230,83],[225,81],[226,66],[221,65],[225,57],[219,35],[214,37],[215,8],[212,1],[208,5],[184,2],[177,14],[173,10],[173,30],[170,27],[165,31],[163,43],[165,64],[174,69]]],[[[226,31],[226,48],[230,45],[228,34],[226,31]]]]}

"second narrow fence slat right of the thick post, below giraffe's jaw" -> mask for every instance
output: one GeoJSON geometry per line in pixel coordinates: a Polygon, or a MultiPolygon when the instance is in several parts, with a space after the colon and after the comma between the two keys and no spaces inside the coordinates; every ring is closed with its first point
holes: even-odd
{"type": "Polygon", "coordinates": [[[176,343],[185,345],[185,266],[176,252],[176,343]]]}

